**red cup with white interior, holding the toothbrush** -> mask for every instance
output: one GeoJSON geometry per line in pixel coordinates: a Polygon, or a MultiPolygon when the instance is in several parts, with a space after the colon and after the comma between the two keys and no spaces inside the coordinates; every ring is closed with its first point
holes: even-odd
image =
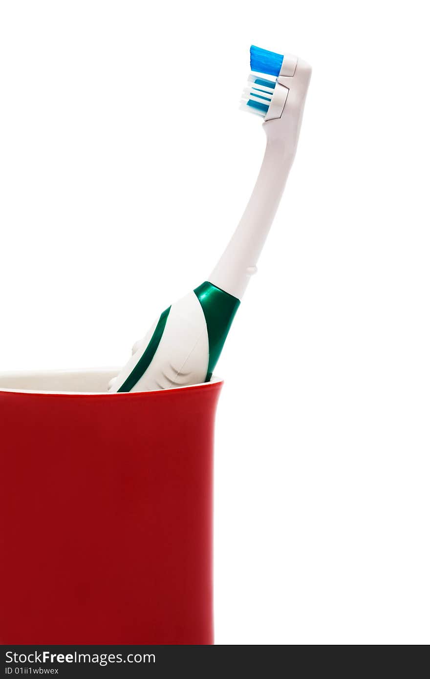
{"type": "Polygon", "coordinates": [[[213,643],[222,382],[114,374],[0,375],[2,644],[213,643]]]}

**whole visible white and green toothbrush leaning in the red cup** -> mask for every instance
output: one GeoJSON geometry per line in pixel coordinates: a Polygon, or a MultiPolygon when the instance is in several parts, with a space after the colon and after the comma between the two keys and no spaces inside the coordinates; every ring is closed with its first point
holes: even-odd
{"type": "Polygon", "coordinates": [[[245,213],[208,280],[162,312],[109,383],[111,392],[211,380],[276,214],[294,160],[311,69],[291,54],[251,46],[241,109],[264,118],[266,152],[245,213]]]}

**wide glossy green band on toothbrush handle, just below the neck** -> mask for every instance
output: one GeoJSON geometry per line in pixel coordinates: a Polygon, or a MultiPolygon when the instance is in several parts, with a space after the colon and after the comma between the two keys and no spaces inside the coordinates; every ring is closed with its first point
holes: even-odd
{"type": "Polygon", "coordinates": [[[194,290],[202,306],[209,338],[209,365],[205,382],[209,382],[224,342],[238,310],[240,299],[229,295],[208,281],[194,290]]]}

